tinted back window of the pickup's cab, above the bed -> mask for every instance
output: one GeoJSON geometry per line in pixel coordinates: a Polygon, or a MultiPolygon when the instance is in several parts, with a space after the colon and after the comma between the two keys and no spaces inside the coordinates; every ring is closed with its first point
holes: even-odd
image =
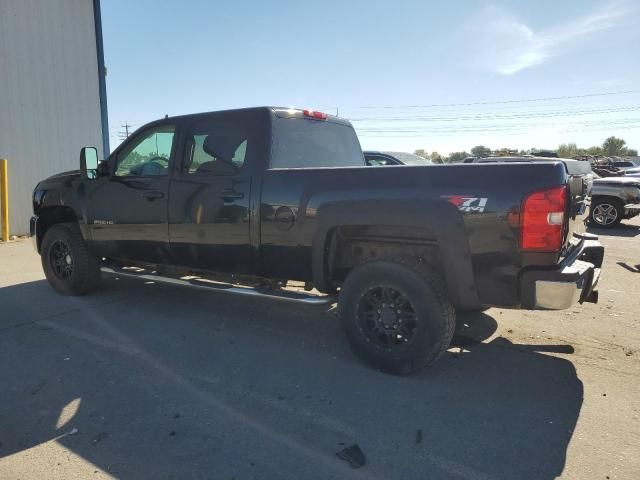
{"type": "Polygon", "coordinates": [[[303,118],[274,118],[271,168],[362,167],[353,128],[303,118]]]}

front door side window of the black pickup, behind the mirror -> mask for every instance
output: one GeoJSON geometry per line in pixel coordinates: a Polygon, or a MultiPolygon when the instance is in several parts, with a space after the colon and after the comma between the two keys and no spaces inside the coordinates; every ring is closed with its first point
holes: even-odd
{"type": "Polygon", "coordinates": [[[167,175],[174,135],[173,125],[142,132],[118,154],[115,176],[167,175]]]}

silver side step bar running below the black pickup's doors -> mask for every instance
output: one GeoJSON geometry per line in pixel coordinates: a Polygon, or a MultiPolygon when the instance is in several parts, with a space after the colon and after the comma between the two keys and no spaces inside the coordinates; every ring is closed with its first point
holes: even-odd
{"type": "Polygon", "coordinates": [[[124,278],[137,278],[165,285],[177,285],[180,287],[197,288],[214,292],[232,293],[247,297],[268,298],[290,303],[302,303],[306,305],[331,305],[337,301],[335,295],[311,295],[286,290],[269,290],[266,288],[241,287],[229,283],[219,283],[198,277],[165,277],[153,273],[145,273],[145,270],[123,270],[111,267],[101,267],[102,273],[117,275],[124,278]]]}

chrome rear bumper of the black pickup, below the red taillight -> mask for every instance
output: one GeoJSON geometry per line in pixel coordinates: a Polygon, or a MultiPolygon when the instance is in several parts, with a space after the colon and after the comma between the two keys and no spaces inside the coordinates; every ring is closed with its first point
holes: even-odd
{"type": "Polygon", "coordinates": [[[576,303],[598,302],[596,286],[604,258],[598,237],[574,234],[574,250],[553,269],[529,269],[520,276],[522,308],[564,310],[576,303]]]}

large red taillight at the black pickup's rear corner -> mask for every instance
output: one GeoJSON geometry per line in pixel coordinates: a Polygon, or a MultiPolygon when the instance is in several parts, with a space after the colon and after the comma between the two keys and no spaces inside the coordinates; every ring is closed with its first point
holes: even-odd
{"type": "Polygon", "coordinates": [[[525,197],[520,212],[520,247],[523,250],[560,250],[566,203],[565,186],[533,192],[525,197]]]}

